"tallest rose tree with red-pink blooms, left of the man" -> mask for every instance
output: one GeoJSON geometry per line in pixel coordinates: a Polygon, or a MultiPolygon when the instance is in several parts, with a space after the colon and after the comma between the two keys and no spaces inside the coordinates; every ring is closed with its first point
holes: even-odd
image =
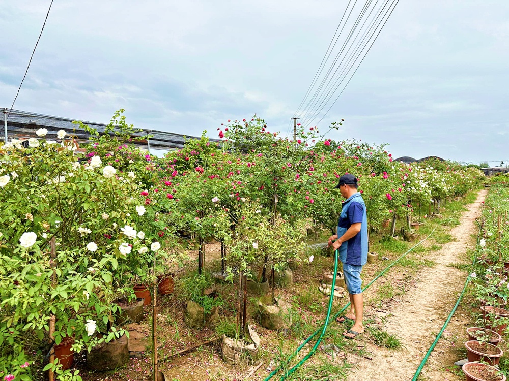
{"type": "MultiPolygon", "coordinates": [[[[306,217],[305,208],[296,202],[298,196],[294,189],[297,186],[300,190],[302,186],[295,183],[295,178],[308,168],[306,145],[315,138],[313,132],[304,132],[299,126],[296,141],[282,139],[277,133],[268,131],[265,121],[254,115],[249,120],[236,120],[223,126],[219,135],[225,138],[224,152],[228,150],[238,156],[237,161],[231,163],[237,169],[230,172],[232,180],[236,176],[243,177],[238,181],[245,183],[244,198],[260,200],[261,210],[272,218],[273,224],[275,216],[280,216],[289,225],[306,217]]],[[[242,200],[237,192],[232,194],[236,201],[237,198],[242,200]]],[[[266,256],[261,281],[267,279],[267,261],[266,256]]]]}

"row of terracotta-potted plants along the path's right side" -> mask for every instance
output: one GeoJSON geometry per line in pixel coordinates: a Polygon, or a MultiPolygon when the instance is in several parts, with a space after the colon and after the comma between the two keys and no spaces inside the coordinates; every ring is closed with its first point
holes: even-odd
{"type": "Polygon", "coordinates": [[[473,313],[475,327],[467,328],[465,347],[469,362],[463,365],[467,380],[500,381],[509,374],[503,357],[507,352],[509,325],[509,310],[506,309],[509,296],[509,241],[504,233],[509,225],[509,186],[500,179],[499,176],[491,179],[492,185],[480,221],[477,264],[475,272],[470,274],[470,289],[479,308],[474,309],[473,313]]]}

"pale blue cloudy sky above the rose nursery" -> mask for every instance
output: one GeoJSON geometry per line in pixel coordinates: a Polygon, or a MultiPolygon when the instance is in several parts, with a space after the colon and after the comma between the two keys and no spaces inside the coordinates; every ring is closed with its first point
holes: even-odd
{"type": "MultiPolygon", "coordinates": [[[[0,107],[49,3],[0,0],[0,107]]],[[[54,0],[14,109],[107,123],[123,108],[137,128],[212,138],[256,113],[285,135],[348,3],[54,0]]],[[[509,2],[401,0],[319,129],[345,119],[326,137],[394,157],[509,161],[507,62],[509,2]]]]}

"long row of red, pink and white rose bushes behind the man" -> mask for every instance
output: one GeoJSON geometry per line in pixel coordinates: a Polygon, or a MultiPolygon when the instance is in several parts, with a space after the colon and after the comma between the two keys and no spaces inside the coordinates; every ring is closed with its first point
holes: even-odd
{"type": "Polygon", "coordinates": [[[28,147],[0,147],[2,379],[36,379],[34,362],[69,338],[75,352],[90,352],[123,336],[119,300],[182,265],[188,239],[220,241],[229,280],[233,268],[254,277],[262,264],[265,277],[299,261],[306,228],[334,231],[333,188],[345,173],[358,178],[372,230],[484,178],[452,162],[395,162],[383,145],[325,140],[316,128],[281,138],[256,115],[218,130],[220,143],[204,135],[158,158],[135,148],[120,110],[108,134],[88,129],[86,154],[64,131],[45,140],[45,129],[28,147]]]}

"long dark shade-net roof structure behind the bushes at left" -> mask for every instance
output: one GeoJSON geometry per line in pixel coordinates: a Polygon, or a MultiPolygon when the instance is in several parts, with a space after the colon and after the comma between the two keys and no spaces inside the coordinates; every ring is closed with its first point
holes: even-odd
{"type": "MultiPolygon", "coordinates": [[[[74,124],[73,121],[76,119],[62,118],[58,116],[50,116],[37,114],[33,112],[26,112],[20,110],[10,110],[0,108],[0,115],[8,113],[7,119],[7,137],[8,138],[21,138],[21,137],[35,137],[37,138],[36,131],[40,128],[48,130],[46,135],[47,139],[56,139],[56,132],[64,130],[68,135],[74,135],[77,141],[88,142],[90,134],[81,129],[79,125],[74,124]]],[[[3,122],[2,118],[2,122],[3,122]]],[[[91,128],[97,130],[100,134],[104,134],[105,128],[108,124],[81,121],[83,124],[87,124],[91,128]]],[[[2,125],[1,123],[0,125],[2,125]]],[[[120,131],[120,129],[116,129],[120,131]]],[[[171,132],[157,131],[157,130],[143,130],[140,133],[133,134],[133,136],[144,136],[147,134],[152,135],[150,138],[150,148],[171,150],[178,149],[184,146],[186,139],[200,139],[199,137],[186,136],[181,134],[175,134],[171,132]]],[[[4,128],[0,128],[0,139],[4,140],[5,133],[4,128]]],[[[210,139],[212,142],[220,140],[210,139]]],[[[141,140],[134,143],[136,146],[146,148],[148,146],[147,140],[141,140]]]]}

